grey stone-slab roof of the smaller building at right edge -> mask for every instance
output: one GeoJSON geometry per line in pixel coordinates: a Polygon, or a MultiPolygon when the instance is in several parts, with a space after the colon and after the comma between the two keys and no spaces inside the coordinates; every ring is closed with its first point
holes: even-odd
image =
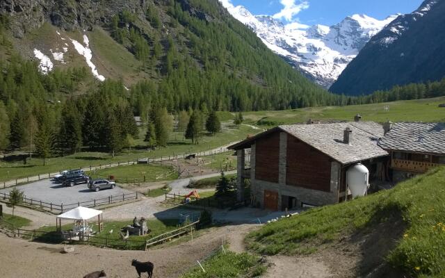
{"type": "Polygon", "coordinates": [[[398,122],[379,145],[394,151],[445,154],[445,123],[398,122]]]}

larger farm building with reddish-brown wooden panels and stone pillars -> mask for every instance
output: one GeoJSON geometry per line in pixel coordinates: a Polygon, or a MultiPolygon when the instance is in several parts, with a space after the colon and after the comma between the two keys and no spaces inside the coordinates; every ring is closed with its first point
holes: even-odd
{"type": "Polygon", "coordinates": [[[369,181],[385,179],[389,153],[378,146],[382,125],[375,122],[294,124],[277,126],[232,145],[238,155],[238,200],[250,179],[254,206],[283,210],[342,202],[346,171],[362,163],[369,181]],[[250,167],[245,154],[250,149],[250,167]]]}

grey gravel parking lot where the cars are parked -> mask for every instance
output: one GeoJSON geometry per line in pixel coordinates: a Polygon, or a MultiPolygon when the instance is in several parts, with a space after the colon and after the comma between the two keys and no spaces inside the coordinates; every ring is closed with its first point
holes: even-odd
{"type": "MultiPolygon", "coordinates": [[[[99,192],[90,190],[86,183],[76,186],[62,186],[49,179],[35,181],[24,186],[17,186],[17,189],[24,192],[29,199],[53,203],[53,204],[73,204],[76,202],[87,202],[94,199],[108,198],[108,196],[122,196],[122,194],[133,193],[130,190],[120,188],[119,185],[113,189],[102,189],[99,192]]],[[[8,193],[13,188],[5,188],[0,193],[8,193]]]]}

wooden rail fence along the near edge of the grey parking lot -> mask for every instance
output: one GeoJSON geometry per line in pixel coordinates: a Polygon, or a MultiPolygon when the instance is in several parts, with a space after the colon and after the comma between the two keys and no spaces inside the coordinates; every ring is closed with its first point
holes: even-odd
{"type": "MultiPolygon", "coordinates": [[[[37,199],[30,199],[26,196],[22,199],[22,204],[26,206],[36,206],[44,211],[54,211],[55,213],[60,212],[63,213],[64,211],[68,211],[72,208],[76,208],[77,206],[86,206],[88,208],[94,208],[96,206],[103,206],[107,204],[115,204],[120,202],[129,201],[132,199],[138,199],[138,192],[136,193],[128,193],[128,194],[122,194],[122,195],[110,195],[108,197],[104,197],[101,199],[92,199],[90,201],[84,201],[84,202],[76,202],[72,204],[54,204],[52,202],[44,202],[42,200],[37,199]]],[[[9,199],[8,193],[0,193],[0,199],[3,199],[3,201],[6,201],[6,199],[9,199]]]]}

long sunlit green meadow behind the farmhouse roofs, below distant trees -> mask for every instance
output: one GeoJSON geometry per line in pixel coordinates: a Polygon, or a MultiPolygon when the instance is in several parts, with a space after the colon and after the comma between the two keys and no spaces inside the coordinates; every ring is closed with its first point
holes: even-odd
{"type": "Polygon", "coordinates": [[[307,120],[348,120],[353,121],[359,113],[364,121],[375,122],[445,122],[445,97],[395,101],[382,104],[353,106],[327,106],[301,108],[286,111],[258,111],[244,113],[245,123],[259,126],[294,124],[307,120]]]}

